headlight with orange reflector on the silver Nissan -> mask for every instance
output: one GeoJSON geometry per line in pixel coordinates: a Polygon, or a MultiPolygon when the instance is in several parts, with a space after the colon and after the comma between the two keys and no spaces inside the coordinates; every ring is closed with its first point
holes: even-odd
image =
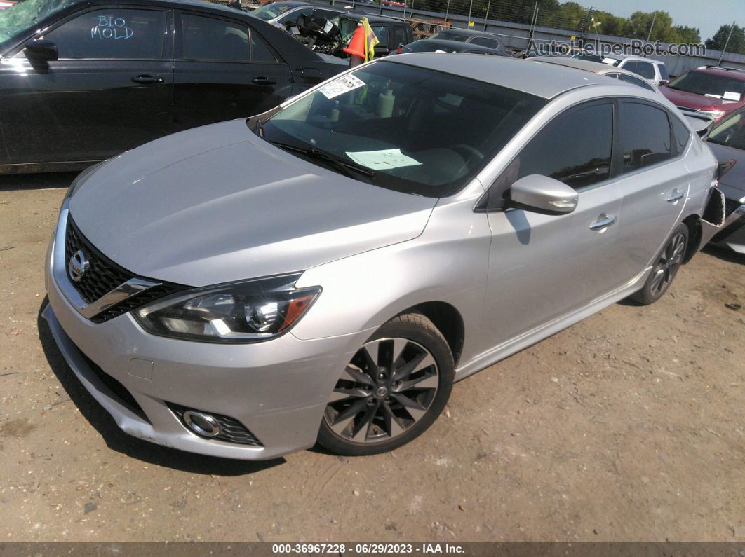
{"type": "Polygon", "coordinates": [[[134,315],[153,335],[202,342],[265,341],[297,323],[320,294],[318,286],[295,289],[299,276],[180,292],[137,309],[134,315]]]}

